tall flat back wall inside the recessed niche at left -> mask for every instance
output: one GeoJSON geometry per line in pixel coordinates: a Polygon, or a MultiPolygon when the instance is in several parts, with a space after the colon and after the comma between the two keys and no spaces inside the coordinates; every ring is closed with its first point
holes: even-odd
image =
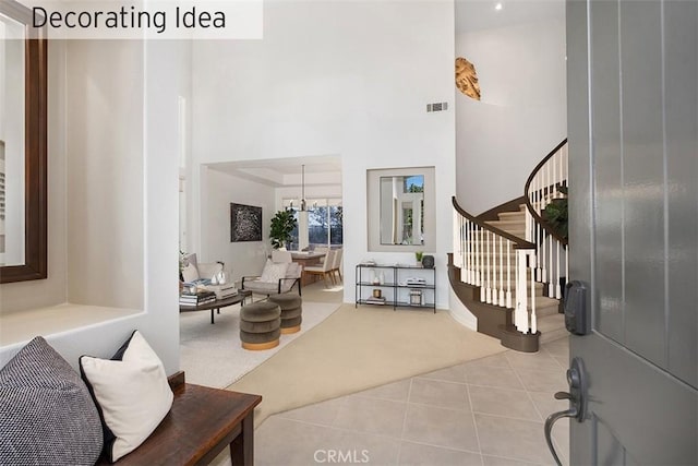
{"type": "Polygon", "coordinates": [[[69,47],[71,302],[143,308],[143,60],[139,41],[74,40],[69,47]]]}

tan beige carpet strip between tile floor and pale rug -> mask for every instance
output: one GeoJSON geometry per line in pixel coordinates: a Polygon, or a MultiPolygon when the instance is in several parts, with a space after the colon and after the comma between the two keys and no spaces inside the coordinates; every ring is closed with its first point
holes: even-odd
{"type": "Polygon", "coordinates": [[[342,304],[228,390],[263,396],[269,415],[504,351],[445,311],[342,304]]]}

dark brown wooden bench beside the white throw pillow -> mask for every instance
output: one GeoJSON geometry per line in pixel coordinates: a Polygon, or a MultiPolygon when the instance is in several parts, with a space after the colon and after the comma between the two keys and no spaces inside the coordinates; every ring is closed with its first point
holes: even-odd
{"type": "MultiPolygon", "coordinates": [[[[117,465],[206,465],[227,446],[233,465],[254,464],[254,407],[262,402],[260,395],[185,383],[182,371],[169,382],[172,408],[117,465]]],[[[109,463],[103,455],[97,464],[109,463]]]]}

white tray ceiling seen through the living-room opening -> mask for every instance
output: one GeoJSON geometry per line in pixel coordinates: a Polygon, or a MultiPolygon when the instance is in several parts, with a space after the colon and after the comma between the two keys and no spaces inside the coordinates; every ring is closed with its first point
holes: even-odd
{"type": "Polygon", "coordinates": [[[303,166],[306,186],[341,183],[341,157],[338,155],[221,162],[208,165],[213,170],[274,188],[301,186],[303,166]]]}

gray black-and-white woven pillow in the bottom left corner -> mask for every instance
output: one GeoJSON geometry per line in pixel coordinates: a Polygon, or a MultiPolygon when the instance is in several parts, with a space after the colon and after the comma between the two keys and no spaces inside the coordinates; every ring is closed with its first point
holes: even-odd
{"type": "Polygon", "coordinates": [[[0,369],[0,464],[94,465],[101,446],[85,383],[44,338],[0,369]]]}

